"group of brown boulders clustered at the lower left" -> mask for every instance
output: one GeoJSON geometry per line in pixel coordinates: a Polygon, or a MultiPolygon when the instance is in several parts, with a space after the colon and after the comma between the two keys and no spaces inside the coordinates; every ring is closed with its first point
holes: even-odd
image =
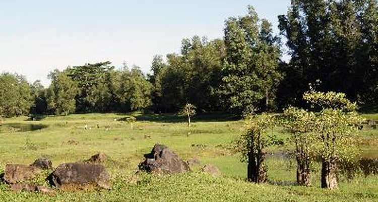
{"type": "MultiPolygon", "coordinates": [[[[102,153],[92,156],[85,163],[60,164],[45,180],[50,186],[61,190],[89,189],[93,187],[110,188],[109,173],[100,164],[106,156],[102,153]]],[[[39,191],[54,193],[54,190],[35,183],[43,170],[51,170],[52,163],[46,158],[35,160],[31,165],[8,164],[3,174],[3,180],[13,191],[39,191]]]]}

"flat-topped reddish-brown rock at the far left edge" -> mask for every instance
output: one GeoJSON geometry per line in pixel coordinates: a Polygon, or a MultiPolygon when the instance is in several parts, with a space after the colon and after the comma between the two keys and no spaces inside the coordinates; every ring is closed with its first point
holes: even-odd
{"type": "Polygon", "coordinates": [[[36,177],[39,171],[40,169],[34,166],[9,164],[5,167],[4,180],[10,184],[24,182],[36,177]]]}

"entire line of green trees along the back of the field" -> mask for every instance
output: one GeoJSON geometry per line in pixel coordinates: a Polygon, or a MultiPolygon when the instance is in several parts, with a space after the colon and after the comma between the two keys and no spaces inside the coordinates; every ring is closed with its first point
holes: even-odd
{"type": "Polygon", "coordinates": [[[223,39],[183,39],[179,54],[155,56],[151,75],[110,62],[50,73],[51,84],[28,84],[0,75],[0,115],[89,112],[279,111],[304,105],[312,88],[338,91],[359,105],[378,103],[378,3],[376,0],[293,0],[279,19],[280,35],[248,14],[225,21],[223,39]],[[285,40],[282,40],[285,39],[285,40]],[[280,58],[286,49],[291,57],[280,58]]]}

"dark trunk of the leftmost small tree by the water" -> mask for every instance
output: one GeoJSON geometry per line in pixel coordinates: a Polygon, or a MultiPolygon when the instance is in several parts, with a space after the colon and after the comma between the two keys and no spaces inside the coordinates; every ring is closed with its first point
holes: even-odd
{"type": "Polygon", "coordinates": [[[263,153],[248,153],[247,178],[256,183],[267,181],[263,153]]]}

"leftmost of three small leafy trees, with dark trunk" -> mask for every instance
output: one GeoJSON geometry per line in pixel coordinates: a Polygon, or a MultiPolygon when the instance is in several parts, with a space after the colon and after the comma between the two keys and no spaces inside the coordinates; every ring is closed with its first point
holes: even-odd
{"type": "Polygon", "coordinates": [[[246,118],[246,131],[236,141],[236,150],[242,155],[242,161],[247,161],[247,178],[260,183],[267,180],[267,168],[264,164],[266,147],[274,144],[272,141],[275,119],[272,115],[263,113],[261,116],[246,118]]]}

